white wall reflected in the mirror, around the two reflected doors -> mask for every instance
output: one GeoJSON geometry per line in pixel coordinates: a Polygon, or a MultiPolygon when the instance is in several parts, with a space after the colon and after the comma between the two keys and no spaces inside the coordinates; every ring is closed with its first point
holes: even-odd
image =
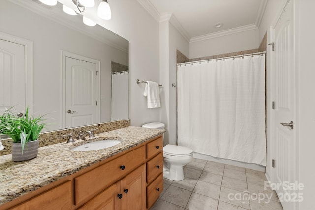
{"type": "Polygon", "coordinates": [[[101,121],[110,121],[111,61],[128,65],[128,54],[6,0],[0,1],[0,20],[1,32],[33,41],[33,103],[28,105],[36,115],[48,113],[47,129],[63,128],[61,50],[100,60],[101,121]]]}

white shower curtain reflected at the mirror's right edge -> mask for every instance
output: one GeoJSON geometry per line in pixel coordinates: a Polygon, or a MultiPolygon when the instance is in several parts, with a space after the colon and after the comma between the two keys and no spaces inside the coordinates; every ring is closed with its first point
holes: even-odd
{"type": "Polygon", "coordinates": [[[111,120],[129,118],[129,72],[112,74],[112,116],[111,120]]]}

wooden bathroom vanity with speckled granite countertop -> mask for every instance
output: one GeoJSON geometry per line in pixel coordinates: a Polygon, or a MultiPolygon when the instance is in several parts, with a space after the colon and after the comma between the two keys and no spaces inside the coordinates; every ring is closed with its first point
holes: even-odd
{"type": "Polygon", "coordinates": [[[126,127],[87,140],[121,141],[106,149],[72,151],[59,143],[26,162],[1,156],[0,210],[149,209],[163,190],[164,132],[126,127]]]}

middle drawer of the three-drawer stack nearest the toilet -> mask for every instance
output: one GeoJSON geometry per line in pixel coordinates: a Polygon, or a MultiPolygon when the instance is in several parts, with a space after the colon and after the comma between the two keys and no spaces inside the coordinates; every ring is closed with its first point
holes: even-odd
{"type": "Polygon", "coordinates": [[[163,152],[147,162],[147,183],[154,180],[160,173],[163,172],[163,152]]]}

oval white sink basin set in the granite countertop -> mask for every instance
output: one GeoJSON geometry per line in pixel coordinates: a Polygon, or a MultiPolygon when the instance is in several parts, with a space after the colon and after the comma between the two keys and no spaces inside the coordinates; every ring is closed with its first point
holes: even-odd
{"type": "Polygon", "coordinates": [[[100,149],[112,147],[112,146],[117,145],[119,143],[121,143],[121,141],[116,140],[116,139],[115,140],[114,139],[100,140],[100,141],[85,143],[85,144],[76,146],[70,150],[72,150],[72,151],[100,150],[100,149]]]}

